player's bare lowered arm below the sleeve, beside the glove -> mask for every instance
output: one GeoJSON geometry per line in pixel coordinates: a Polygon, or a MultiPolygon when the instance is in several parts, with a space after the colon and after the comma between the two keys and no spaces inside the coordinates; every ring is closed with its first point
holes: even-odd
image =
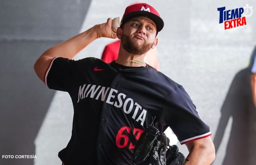
{"type": "Polygon", "coordinates": [[[189,150],[189,161],[186,161],[185,165],[209,165],[215,159],[214,144],[210,137],[186,143],[186,146],[189,150]]]}

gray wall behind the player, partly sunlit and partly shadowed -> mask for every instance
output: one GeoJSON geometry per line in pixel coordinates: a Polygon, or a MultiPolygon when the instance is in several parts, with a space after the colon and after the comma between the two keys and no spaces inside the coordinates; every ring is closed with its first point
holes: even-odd
{"type": "MultiPolygon", "coordinates": [[[[33,70],[49,47],[108,17],[122,16],[133,1],[3,1],[0,4],[0,164],[60,164],[58,151],[70,139],[69,95],[48,89],[33,70]],[[33,155],[2,159],[2,155],[33,155]]],[[[146,1],[164,19],[158,34],[161,72],[182,84],[216,146],[214,165],[255,164],[255,108],[250,59],[255,54],[256,14],[247,25],[225,31],[217,7],[256,7],[248,1],[146,1]],[[243,162],[243,163],[241,163],[243,162]]],[[[256,10],[256,9],[255,9],[256,10]]],[[[113,40],[100,38],[75,59],[100,58],[113,40]]],[[[186,146],[180,151],[188,154],[186,146]]]]}

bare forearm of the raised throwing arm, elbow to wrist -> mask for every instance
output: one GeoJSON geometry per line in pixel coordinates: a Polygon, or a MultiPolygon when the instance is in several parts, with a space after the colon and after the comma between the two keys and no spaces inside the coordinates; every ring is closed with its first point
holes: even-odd
{"type": "Polygon", "coordinates": [[[89,45],[92,41],[98,38],[97,34],[97,25],[92,28],[66,40],[61,42],[58,45],[51,47],[46,50],[42,56],[49,57],[64,57],[72,59],[78,52],[84,49],[87,45],[89,45]]]}

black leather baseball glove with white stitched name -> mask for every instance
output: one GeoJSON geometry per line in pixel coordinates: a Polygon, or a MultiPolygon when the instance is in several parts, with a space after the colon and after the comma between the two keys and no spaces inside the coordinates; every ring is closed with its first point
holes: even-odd
{"type": "Polygon", "coordinates": [[[133,160],[135,165],[183,165],[185,156],[179,152],[176,145],[169,145],[169,138],[157,128],[148,125],[136,142],[133,160]],[[168,147],[167,147],[168,146],[168,147]]]}

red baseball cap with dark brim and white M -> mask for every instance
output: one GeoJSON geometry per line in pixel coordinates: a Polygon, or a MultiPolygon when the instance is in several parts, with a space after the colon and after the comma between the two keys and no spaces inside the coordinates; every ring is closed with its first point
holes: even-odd
{"type": "Polygon", "coordinates": [[[136,3],[126,7],[120,26],[136,16],[145,16],[152,19],[156,24],[157,32],[160,32],[164,27],[164,21],[161,19],[157,10],[146,3],[136,3]]]}

